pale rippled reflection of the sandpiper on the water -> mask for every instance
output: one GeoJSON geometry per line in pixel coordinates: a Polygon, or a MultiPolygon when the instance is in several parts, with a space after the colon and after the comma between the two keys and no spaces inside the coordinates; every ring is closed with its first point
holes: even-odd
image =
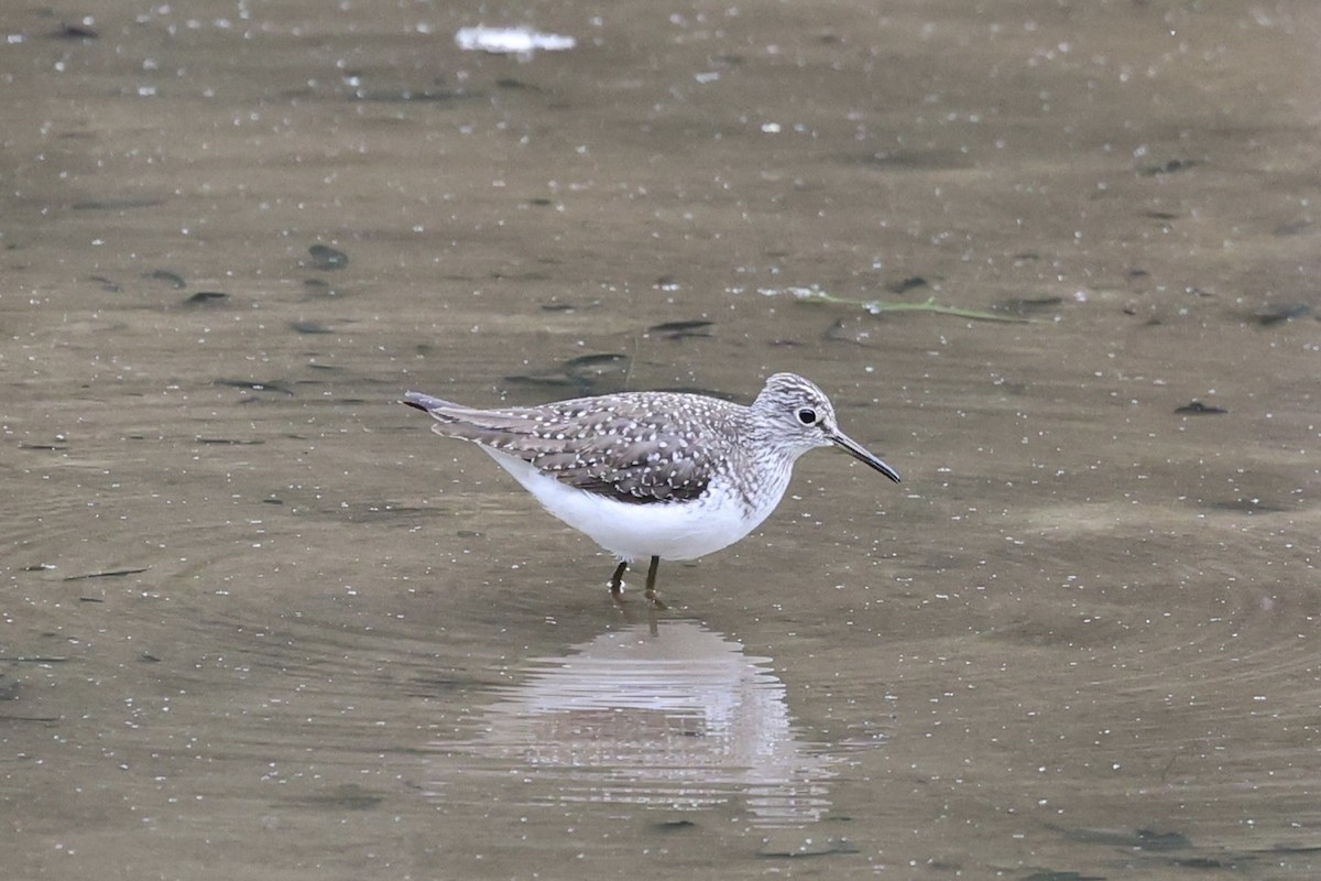
{"type": "Polygon", "coordinates": [[[769,663],[696,622],[626,626],[531,660],[481,711],[480,736],[443,746],[506,773],[517,763],[536,802],[699,810],[737,798],[758,824],[815,822],[834,759],[799,740],[769,663]]]}

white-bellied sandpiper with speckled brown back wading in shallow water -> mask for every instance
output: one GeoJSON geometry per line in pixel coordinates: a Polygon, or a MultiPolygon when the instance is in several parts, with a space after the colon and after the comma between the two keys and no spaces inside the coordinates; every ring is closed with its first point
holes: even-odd
{"type": "Polygon", "coordinates": [[[633,560],[651,559],[651,597],[662,559],[692,560],[757,528],[810,449],[839,446],[900,479],[839,429],[826,394],[795,374],[773,375],[750,407],[662,391],[498,409],[411,391],[403,403],[431,413],[437,435],[481,446],[547,511],[620,557],[616,597],[633,560]]]}

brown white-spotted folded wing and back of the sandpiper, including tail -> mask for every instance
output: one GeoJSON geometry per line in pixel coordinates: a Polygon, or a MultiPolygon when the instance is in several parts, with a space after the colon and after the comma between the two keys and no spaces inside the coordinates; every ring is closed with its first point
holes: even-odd
{"type": "MultiPolygon", "coordinates": [[[[576,399],[542,407],[476,409],[408,392],[404,403],[436,419],[432,431],[515,456],[569,486],[639,505],[700,497],[713,477],[697,456],[696,427],[688,413],[707,420],[729,417],[724,402],[684,395],[637,392],[576,399]],[[675,403],[686,407],[675,407],[675,403]]],[[[737,450],[712,450],[716,461],[737,450]]],[[[709,461],[709,460],[708,460],[709,461]]]]}

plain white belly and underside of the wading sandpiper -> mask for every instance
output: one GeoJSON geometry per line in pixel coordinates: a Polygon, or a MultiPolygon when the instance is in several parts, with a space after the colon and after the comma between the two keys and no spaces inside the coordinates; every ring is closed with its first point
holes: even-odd
{"type": "Polygon", "coordinates": [[[728,489],[713,482],[695,502],[630,505],[575,489],[536,470],[520,458],[482,448],[528,493],[575,530],[624,560],[658,556],[662,560],[694,560],[727,548],[765,520],[789,485],[789,473],[778,486],[762,486],[761,502],[749,511],[728,489]]]}

